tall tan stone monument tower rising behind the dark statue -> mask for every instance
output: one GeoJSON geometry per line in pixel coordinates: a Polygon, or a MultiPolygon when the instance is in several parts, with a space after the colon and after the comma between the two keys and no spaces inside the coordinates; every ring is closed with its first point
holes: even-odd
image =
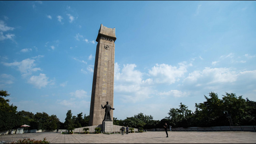
{"type": "MultiPolygon", "coordinates": [[[[113,108],[114,99],[114,61],[115,61],[115,28],[100,25],[96,41],[96,57],[94,64],[92,96],[89,126],[102,124],[105,110],[101,105],[109,102],[113,108]]],[[[113,110],[110,111],[113,120],[113,110]]]]}

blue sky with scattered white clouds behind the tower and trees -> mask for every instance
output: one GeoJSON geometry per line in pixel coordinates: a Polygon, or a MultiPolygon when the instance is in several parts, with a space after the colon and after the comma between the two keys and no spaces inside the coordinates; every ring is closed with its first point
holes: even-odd
{"type": "MultiPolygon", "coordinates": [[[[0,89],[18,111],[89,115],[100,24],[115,28],[113,116],[154,120],[215,92],[256,101],[256,1],[0,1],[0,89]]],[[[105,104],[105,103],[103,103],[105,104]]]]}

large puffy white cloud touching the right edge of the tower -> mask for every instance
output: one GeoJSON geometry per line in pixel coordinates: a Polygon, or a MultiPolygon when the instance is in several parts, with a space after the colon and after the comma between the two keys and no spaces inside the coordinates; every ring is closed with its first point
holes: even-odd
{"type": "Polygon", "coordinates": [[[153,94],[154,90],[148,86],[152,80],[143,80],[143,73],[134,70],[135,67],[135,64],[126,64],[121,69],[118,63],[115,63],[114,91],[115,95],[122,97],[123,102],[127,100],[133,103],[143,101],[153,94]]]}

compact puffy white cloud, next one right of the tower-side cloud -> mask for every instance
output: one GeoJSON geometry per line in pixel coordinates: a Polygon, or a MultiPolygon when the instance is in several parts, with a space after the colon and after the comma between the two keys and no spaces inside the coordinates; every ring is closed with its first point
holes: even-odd
{"type": "Polygon", "coordinates": [[[148,73],[154,77],[153,80],[156,83],[173,84],[183,77],[184,73],[187,72],[186,68],[188,66],[191,66],[191,64],[179,63],[178,68],[164,63],[156,64],[148,73]]]}

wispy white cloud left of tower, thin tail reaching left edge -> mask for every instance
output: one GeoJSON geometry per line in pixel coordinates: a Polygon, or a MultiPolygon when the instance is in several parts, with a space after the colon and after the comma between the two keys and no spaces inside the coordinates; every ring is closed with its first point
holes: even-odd
{"type": "Polygon", "coordinates": [[[7,62],[2,62],[5,66],[17,66],[18,70],[23,73],[23,75],[29,75],[32,72],[36,71],[41,71],[40,68],[35,68],[36,64],[34,63],[35,60],[32,59],[25,59],[22,60],[21,62],[12,62],[12,63],[7,63],[7,62]]]}

